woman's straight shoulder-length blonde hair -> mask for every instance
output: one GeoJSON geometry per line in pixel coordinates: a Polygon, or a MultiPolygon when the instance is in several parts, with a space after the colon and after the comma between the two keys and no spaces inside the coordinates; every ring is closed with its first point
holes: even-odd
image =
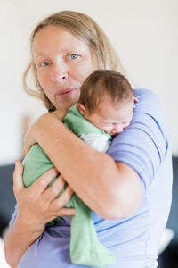
{"type": "MultiPolygon", "coordinates": [[[[115,52],[113,46],[111,46],[109,39],[107,38],[103,30],[95,21],[93,21],[92,18],[90,18],[84,13],[62,11],[60,13],[54,13],[49,17],[45,18],[43,21],[39,22],[31,34],[31,52],[36,33],[48,26],[56,26],[68,29],[77,38],[84,41],[96,57],[99,69],[110,69],[113,71],[121,71],[125,73],[123,66],[119,62],[117,53],[115,52]]],[[[56,109],[54,105],[50,102],[50,100],[47,98],[47,96],[45,96],[44,90],[43,88],[41,88],[37,80],[36,64],[34,63],[32,56],[31,61],[28,64],[28,67],[23,75],[23,86],[25,88],[25,91],[29,95],[36,96],[41,99],[48,110],[56,109]],[[28,87],[27,76],[28,71],[30,70],[33,71],[33,75],[36,80],[36,88],[38,89],[38,91],[28,87]]]]}

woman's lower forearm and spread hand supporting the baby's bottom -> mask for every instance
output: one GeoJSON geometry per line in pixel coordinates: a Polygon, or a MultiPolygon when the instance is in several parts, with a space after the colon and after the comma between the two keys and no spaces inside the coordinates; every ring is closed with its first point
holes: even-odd
{"type": "Polygon", "coordinates": [[[23,186],[22,172],[21,163],[16,162],[13,188],[19,211],[4,241],[5,257],[12,267],[19,264],[24,252],[40,237],[46,222],[52,221],[56,216],[75,214],[74,209],[63,208],[73,193],[70,187],[60,198],[56,198],[65,184],[61,177],[55,180],[53,186],[47,188],[58,174],[56,169],[44,173],[29,188],[23,186]]]}

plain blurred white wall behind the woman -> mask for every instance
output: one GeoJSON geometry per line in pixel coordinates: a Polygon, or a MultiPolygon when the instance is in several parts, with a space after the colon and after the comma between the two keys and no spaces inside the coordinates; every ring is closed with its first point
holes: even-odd
{"type": "Polygon", "coordinates": [[[91,15],[106,31],[136,86],[158,94],[173,153],[178,155],[177,0],[1,0],[0,165],[20,158],[22,117],[30,114],[33,121],[45,112],[21,85],[29,33],[45,15],[67,9],[91,15]]]}

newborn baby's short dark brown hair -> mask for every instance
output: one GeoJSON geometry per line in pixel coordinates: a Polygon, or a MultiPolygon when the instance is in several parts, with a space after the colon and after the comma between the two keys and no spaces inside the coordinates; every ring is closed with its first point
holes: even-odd
{"type": "Polygon", "coordinates": [[[85,105],[87,112],[91,114],[106,97],[117,104],[121,100],[132,100],[134,92],[129,81],[120,72],[93,71],[81,87],[78,103],[85,105]]]}

